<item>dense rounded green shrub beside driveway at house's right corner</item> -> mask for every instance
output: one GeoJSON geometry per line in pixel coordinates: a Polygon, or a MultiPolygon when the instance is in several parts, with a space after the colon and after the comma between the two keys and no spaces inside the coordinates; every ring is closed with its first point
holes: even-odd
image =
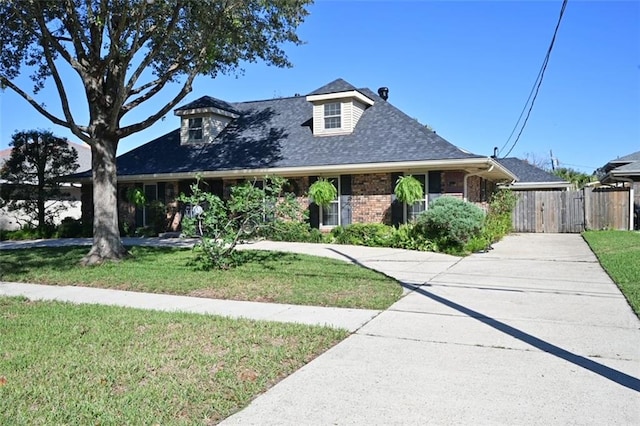
{"type": "Polygon", "coordinates": [[[438,251],[459,253],[470,239],[480,236],[484,218],[484,212],[475,204],[440,197],[418,216],[415,231],[432,240],[438,251]]]}

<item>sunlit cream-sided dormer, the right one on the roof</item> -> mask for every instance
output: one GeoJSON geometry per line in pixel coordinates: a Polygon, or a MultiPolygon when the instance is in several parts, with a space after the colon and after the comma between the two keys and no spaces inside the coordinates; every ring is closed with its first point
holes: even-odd
{"type": "Polygon", "coordinates": [[[373,100],[342,79],[335,80],[307,95],[313,104],[314,136],[352,133],[373,100]]]}

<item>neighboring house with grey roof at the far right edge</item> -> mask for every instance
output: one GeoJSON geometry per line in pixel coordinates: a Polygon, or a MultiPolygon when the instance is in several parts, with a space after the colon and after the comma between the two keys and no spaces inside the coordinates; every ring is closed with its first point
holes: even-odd
{"type": "Polygon", "coordinates": [[[597,170],[603,185],[633,189],[636,229],[640,226],[640,151],[618,157],[597,170]]]}

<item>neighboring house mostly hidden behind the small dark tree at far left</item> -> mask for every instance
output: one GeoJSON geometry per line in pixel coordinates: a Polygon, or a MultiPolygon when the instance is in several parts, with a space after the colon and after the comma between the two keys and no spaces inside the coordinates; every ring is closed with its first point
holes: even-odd
{"type": "MultiPolygon", "coordinates": [[[[78,152],[78,170],[91,169],[91,148],[85,144],[77,144],[67,140],[69,146],[74,148],[78,152]]],[[[3,149],[0,151],[0,168],[2,164],[11,156],[11,148],[3,149]]],[[[6,182],[0,180],[0,186],[4,187],[6,182]]],[[[74,219],[80,219],[82,215],[82,209],[80,205],[81,188],[78,185],[63,184],[63,193],[69,194],[65,197],[65,200],[50,200],[49,203],[63,203],[64,209],[62,209],[55,222],[59,223],[65,217],[72,217],[74,219]]],[[[49,205],[49,204],[47,204],[49,205]]],[[[25,215],[19,211],[8,211],[6,208],[0,208],[0,229],[16,230],[20,228],[20,224],[25,222],[25,215]]]]}

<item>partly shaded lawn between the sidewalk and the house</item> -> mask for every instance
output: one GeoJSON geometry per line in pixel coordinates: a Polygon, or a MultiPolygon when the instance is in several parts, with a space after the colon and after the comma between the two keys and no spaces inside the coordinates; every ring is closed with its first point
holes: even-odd
{"type": "Polygon", "coordinates": [[[198,271],[189,249],[132,247],[118,263],[80,267],[87,247],[0,251],[0,280],[81,285],[218,299],[386,309],[402,288],[383,274],[338,260],[247,251],[236,268],[198,271]]]}

